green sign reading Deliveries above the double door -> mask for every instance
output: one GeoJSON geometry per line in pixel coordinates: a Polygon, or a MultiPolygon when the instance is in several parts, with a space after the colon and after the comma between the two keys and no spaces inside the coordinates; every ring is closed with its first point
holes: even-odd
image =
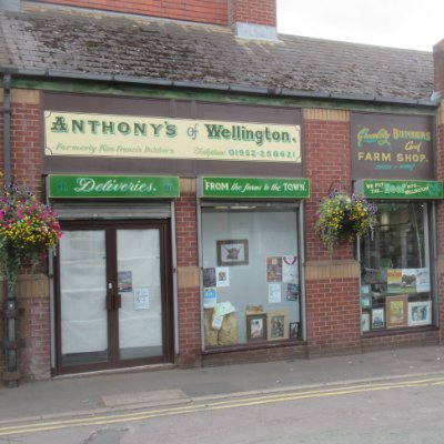
{"type": "Polygon", "coordinates": [[[178,198],[179,178],[149,175],[49,175],[49,196],[69,199],[178,198]]]}

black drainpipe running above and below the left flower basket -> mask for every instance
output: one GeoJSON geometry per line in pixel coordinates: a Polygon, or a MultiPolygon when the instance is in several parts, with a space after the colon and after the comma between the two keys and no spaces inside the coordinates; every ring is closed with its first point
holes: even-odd
{"type": "MultiPolygon", "coordinates": [[[[11,74],[3,74],[3,180],[11,182],[11,74]]],[[[9,386],[17,386],[19,372],[17,367],[17,300],[12,289],[4,282],[6,301],[3,310],[4,322],[4,357],[6,372],[3,381],[9,386]]]]}

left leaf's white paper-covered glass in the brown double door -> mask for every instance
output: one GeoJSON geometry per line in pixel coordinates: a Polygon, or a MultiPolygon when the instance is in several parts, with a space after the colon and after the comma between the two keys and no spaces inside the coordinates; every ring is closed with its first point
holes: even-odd
{"type": "Polygon", "coordinates": [[[62,365],[107,362],[103,230],[63,231],[60,240],[60,293],[62,365]]]}

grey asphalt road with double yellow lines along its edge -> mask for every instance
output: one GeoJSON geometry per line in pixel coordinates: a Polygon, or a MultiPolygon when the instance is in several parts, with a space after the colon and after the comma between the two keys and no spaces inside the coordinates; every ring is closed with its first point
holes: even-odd
{"type": "Polygon", "coordinates": [[[0,443],[441,443],[443,418],[444,375],[436,374],[3,422],[0,443]]]}

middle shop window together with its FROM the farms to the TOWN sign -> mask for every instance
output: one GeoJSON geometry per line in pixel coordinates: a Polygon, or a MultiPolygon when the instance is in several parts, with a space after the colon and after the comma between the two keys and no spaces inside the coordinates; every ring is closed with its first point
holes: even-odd
{"type": "Polygon", "coordinates": [[[200,178],[203,350],[305,337],[306,179],[200,178]]]}

